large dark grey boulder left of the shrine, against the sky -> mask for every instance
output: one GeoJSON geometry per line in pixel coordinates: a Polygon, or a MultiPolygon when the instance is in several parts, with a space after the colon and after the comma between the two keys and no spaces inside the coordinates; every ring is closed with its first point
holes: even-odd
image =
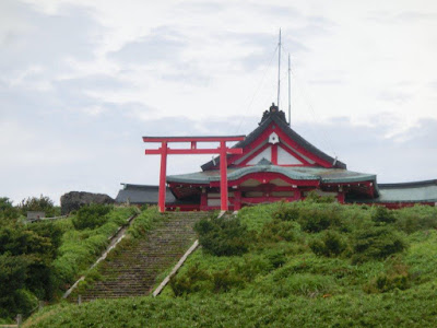
{"type": "Polygon", "coordinates": [[[115,200],[105,194],[70,191],[61,196],[61,213],[66,215],[90,203],[114,203],[115,200]]]}

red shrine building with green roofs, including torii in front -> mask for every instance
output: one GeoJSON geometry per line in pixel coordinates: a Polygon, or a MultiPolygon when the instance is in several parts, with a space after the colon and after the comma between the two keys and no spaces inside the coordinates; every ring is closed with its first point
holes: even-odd
{"type": "Polygon", "coordinates": [[[340,203],[401,208],[415,203],[435,206],[437,202],[437,180],[378,184],[375,174],[349,171],[345,163],[296,133],[288,126],[284,112],[274,104],[263,113],[252,132],[240,137],[186,137],[180,140],[179,137],[144,137],[145,142],[155,141],[155,138],[165,147],[146,150],[146,154],[162,155],[161,195],[158,186],[122,184],[123,189],[116,201],[160,203],[162,211],[237,211],[258,203],[298,201],[315,190],[320,196],[334,197],[340,203]],[[235,140],[240,141],[229,149],[225,147],[226,141],[235,140]],[[191,141],[191,149],[178,152],[167,148],[167,142],[177,141],[191,141]],[[197,149],[197,142],[201,141],[220,141],[221,148],[202,152],[197,149]],[[201,165],[200,172],[166,175],[166,155],[181,153],[217,153],[218,156],[201,165]],[[225,161],[221,163],[224,156],[225,161]]]}

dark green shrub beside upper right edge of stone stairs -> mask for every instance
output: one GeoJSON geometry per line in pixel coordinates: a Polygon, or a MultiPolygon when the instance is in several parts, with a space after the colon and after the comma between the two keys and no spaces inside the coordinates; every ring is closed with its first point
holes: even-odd
{"type": "Polygon", "coordinates": [[[251,233],[238,218],[202,219],[194,230],[203,249],[215,256],[239,256],[248,251],[251,233]]]}

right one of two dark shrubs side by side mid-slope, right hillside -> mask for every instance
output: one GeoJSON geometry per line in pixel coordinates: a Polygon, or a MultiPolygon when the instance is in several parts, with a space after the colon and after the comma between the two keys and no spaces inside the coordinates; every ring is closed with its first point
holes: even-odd
{"type": "Polygon", "coordinates": [[[369,227],[356,232],[353,245],[353,262],[385,259],[406,248],[404,239],[388,227],[369,227]]]}

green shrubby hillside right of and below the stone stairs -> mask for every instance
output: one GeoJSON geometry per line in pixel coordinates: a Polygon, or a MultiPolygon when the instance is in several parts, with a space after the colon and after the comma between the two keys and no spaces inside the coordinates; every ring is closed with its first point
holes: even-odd
{"type": "Polygon", "coordinates": [[[201,221],[158,297],[58,304],[25,327],[435,327],[437,209],[324,201],[201,221]]]}

